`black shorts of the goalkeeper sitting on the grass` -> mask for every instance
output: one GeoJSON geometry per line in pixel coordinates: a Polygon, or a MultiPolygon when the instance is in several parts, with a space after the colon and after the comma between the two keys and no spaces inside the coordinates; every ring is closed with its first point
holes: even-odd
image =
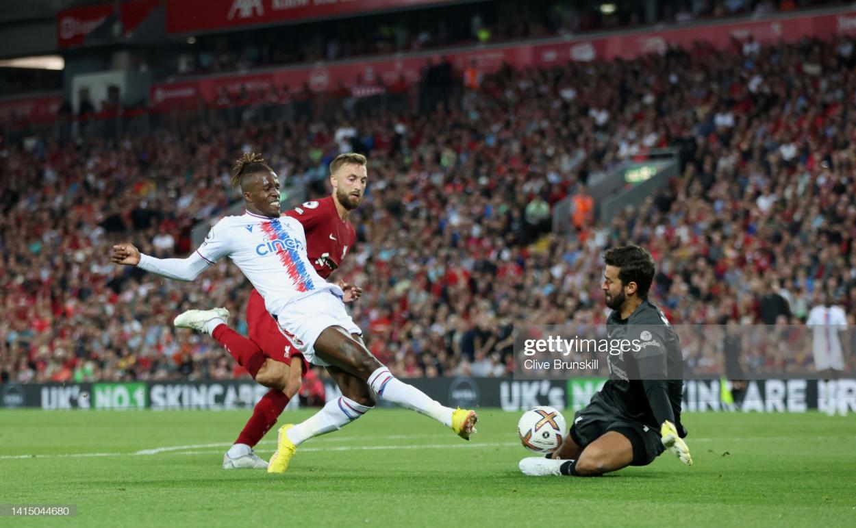
{"type": "Polygon", "coordinates": [[[580,448],[586,448],[610,430],[626,436],[633,446],[631,466],[648,466],[663,453],[660,431],[619,416],[614,409],[597,399],[591,400],[590,404],[574,414],[574,424],[571,424],[569,434],[580,448]]]}

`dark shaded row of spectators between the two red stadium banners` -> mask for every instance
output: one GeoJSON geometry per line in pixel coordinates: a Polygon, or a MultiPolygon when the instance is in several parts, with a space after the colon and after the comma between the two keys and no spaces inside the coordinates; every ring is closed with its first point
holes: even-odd
{"type": "Polygon", "coordinates": [[[282,64],[334,61],[459,45],[495,44],[614,29],[684,24],[729,16],[770,15],[841,2],[823,0],[669,0],[645,2],[578,0],[441,5],[397,13],[288,27],[194,37],[170,43],[155,56],[177,74],[244,71],[282,64]]]}

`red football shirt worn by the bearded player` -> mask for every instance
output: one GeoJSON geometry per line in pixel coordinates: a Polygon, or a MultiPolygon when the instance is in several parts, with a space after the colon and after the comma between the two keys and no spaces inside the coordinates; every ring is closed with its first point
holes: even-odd
{"type": "Polygon", "coordinates": [[[332,196],[305,202],[284,214],[303,224],[306,254],[324,279],[342,264],[357,240],[354,225],[339,217],[332,196]]]}

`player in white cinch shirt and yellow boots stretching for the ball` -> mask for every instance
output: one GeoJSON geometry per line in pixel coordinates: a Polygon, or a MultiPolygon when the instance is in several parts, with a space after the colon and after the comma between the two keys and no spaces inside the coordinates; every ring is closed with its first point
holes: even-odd
{"type": "MultiPolygon", "coordinates": [[[[254,155],[248,156],[255,159],[254,155]]],[[[154,258],[122,243],[113,246],[111,261],[192,281],[218,259],[229,257],[265,298],[267,311],[304,357],[314,365],[331,365],[342,371],[336,382],[343,395],[371,389],[371,395],[381,395],[435,418],[469,440],[478,420],[475,412],[442,406],[419,389],[401,383],[368,351],[360,338],[360,328],[345,311],[342,289],[324,281],[306,257],[303,226],[294,218],[280,217],[276,174],[263,163],[259,165],[259,170],[241,177],[247,211],[240,217],[225,217],[217,222],[189,257],[154,258]]],[[[371,404],[362,405],[343,397],[328,402],[301,424],[283,425],[268,472],[285,472],[300,443],[341,429],[371,409],[371,404]]]]}

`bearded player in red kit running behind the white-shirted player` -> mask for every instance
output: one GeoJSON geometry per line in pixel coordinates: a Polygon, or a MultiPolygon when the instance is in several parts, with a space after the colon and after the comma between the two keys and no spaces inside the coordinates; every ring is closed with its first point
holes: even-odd
{"type": "MultiPolygon", "coordinates": [[[[366,189],[366,157],[360,154],[342,154],[330,163],[330,182],[333,194],[317,201],[309,201],[287,211],[284,215],[297,219],[306,232],[306,253],[318,275],[324,279],[336,270],[354,247],[356,232],[348,222],[348,215],[360,205],[366,189]]],[[[241,174],[236,167],[235,173],[241,174]]],[[[344,300],[355,300],[362,290],[354,285],[339,282],[345,293],[344,300]]],[[[235,444],[223,455],[223,469],[265,469],[268,465],[253,453],[265,433],[276,424],[288,401],[300,389],[301,375],[308,364],[297,347],[265,308],[265,300],[253,288],[247,300],[247,327],[249,338],[229,328],[229,311],[185,311],[175,318],[175,326],[210,333],[229,350],[238,363],[249,371],[253,379],[269,387],[265,396],[253,409],[235,444]],[[293,363],[293,359],[297,359],[293,363]],[[291,368],[294,366],[294,368],[291,368]]]]}

